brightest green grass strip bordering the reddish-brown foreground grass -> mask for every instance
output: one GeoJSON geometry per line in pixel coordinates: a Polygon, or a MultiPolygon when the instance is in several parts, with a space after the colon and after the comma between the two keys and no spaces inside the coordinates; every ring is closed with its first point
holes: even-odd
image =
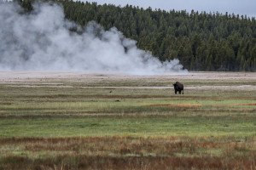
{"type": "Polygon", "coordinates": [[[256,135],[255,122],[255,117],[246,116],[4,118],[0,121],[0,137],[104,135],[246,137],[256,135]]]}

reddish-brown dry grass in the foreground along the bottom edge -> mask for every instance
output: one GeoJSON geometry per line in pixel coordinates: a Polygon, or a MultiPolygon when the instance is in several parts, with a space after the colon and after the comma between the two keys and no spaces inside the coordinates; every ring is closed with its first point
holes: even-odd
{"type": "Polygon", "coordinates": [[[255,140],[203,137],[9,138],[22,152],[1,156],[0,169],[255,169],[255,140]],[[219,150],[216,153],[208,150],[219,150]]]}

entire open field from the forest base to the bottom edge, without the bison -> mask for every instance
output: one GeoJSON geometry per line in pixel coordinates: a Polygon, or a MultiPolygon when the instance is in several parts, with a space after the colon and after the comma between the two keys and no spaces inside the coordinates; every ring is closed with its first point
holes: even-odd
{"type": "Polygon", "coordinates": [[[0,169],[256,169],[256,73],[0,72],[0,94],[0,169]]]}

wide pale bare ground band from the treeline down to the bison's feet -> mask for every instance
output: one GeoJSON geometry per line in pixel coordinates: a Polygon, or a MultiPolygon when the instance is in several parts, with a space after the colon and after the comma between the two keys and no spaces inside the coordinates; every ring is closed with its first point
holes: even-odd
{"type": "Polygon", "coordinates": [[[244,84],[185,85],[186,89],[239,89],[256,90],[255,72],[189,72],[188,74],[166,74],[156,76],[131,76],[121,74],[102,74],[90,72],[49,72],[49,71],[0,71],[0,84],[25,88],[173,88],[172,82],[186,81],[234,81],[244,84]],[[69,82],[66,84],[66,82],[69,82]],[[109,86],[111,82],[111,86],[109,86]],[[115,82],[121,82],[113,87],[115,82]],[[160,82],[160,83],[158,83],[160,82]],[[162,83],[164,82],[164,83],[162,83]],[[88,86],[90,83],[96,83],[88,86]],[[154,84],[155,83],[155,84],[154,84]],[[165,84],[161,86],[161,84],[165,84]],[[166,86],[168,85],[168,86],[166,86]]]}

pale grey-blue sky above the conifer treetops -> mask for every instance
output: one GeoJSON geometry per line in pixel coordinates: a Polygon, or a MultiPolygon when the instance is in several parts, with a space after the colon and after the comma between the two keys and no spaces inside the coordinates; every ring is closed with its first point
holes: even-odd
{"type": "MultiPolygon", "coordinates": [[[[86,0],[82,0],[86,1],[86,0]]],[[[195,11],[207,11],[225,14],[247,14],[249,17],[256,17],[256,0],[87,0],[88,2],[96,2],[98,4],[112,3],[125,6],[127,3],[143,8],[149,6],[153,9],[160,8],[169,11],[171,9],[186,9],[189,13],[191,9],[195,11]]]]}

